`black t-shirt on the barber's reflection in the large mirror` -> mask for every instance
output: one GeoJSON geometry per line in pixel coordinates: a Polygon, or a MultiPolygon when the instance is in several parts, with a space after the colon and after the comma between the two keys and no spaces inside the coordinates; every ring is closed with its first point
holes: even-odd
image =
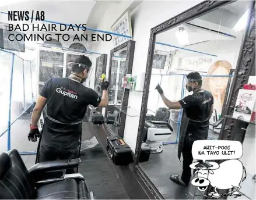
{"type": "Polygon", "coordinates": [[[185,115],[190,119],[189,127],[204,128],[209,126],[211,106],[213,105],[211,92],[206,90],[197,92],[178,102],[184,109],[185,115]]]}

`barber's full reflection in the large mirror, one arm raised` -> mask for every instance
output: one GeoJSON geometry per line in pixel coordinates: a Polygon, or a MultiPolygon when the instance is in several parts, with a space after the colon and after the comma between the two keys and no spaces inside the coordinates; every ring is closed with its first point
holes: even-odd
{"type": "Polygon", "coordinates": [[[169,109],[183,108],[189,119],[187,129],[184,131],[184,140],[180,141],[183,142],[183,173],[181,176],[170,175],[170,179],[174,183],[188,186],[191,178],[190,165],[193,161],[192,144],[194,141],[206,140],[208,137],[209,119],[213,112],[213,96],[211,92],[202,89],[202,77],[198,72],[188,74],[185,81],[185,87],[193,94],[177,102],[169,101],[164,96],[159,84],[156,86],[156,90],[169,109]]]}

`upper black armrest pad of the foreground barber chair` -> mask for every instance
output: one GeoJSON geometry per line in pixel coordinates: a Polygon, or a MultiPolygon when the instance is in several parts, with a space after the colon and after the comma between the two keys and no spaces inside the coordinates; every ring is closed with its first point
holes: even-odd
{"type": "Polygon", "coordinates": [[[80,158],[70,160],[54,160],[48,162],[41,162],[33,165],[29,168],[29,174],[38,174],[43,172],[50,172],[54,170],[64,170],[69,168],[75,168],[79,166],[81,162],[80,158]]]}

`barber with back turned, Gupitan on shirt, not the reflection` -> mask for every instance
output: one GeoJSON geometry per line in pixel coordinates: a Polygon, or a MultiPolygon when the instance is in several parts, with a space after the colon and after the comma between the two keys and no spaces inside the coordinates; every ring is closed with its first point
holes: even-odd
{"type": "Polygon", "coordinates": [[[92,66],[87,56],[76,56],[68,65],[72,67],[71,75],[48,80],[33,110],[28,138],[34,142],[40,135],[37,123],[47,103],[47,117],[41,131],[36,162],[78,158],[82,120],[87,106],[105,108],[108,104],[107,81],[101,83],[102,98],[82,84],[92,66]]]}

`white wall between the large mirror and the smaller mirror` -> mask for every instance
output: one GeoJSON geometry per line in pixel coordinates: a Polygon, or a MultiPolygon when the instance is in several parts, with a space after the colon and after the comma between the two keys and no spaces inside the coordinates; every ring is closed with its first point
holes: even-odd
{"type": "MultiPolygon", "coordinates": [[[[201,1],[144,1],[132,13],[135,52],[132,74],[145,72],[148,57],[150,29],[197,5],[201,1]]],[[[129,102],[132,109],[141,110],[142,92],[131,91],[129,102]]],[[[139,117],[127,117],[124,140],[135,151],[139,117]]]]}

